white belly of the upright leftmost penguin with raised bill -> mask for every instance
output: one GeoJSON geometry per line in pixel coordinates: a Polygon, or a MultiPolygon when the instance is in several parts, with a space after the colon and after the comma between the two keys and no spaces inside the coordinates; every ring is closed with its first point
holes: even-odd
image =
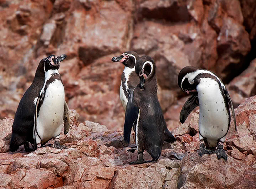
{"type": "Polygon", "coordinates": [[[60,134],[64,113],[64,86],[55,79],[45,91],[45,99],[40,107],[36,124],[36,143],[45,143],[60,134]],[[39,138],[39,136],[40,138],[39,138]]]}

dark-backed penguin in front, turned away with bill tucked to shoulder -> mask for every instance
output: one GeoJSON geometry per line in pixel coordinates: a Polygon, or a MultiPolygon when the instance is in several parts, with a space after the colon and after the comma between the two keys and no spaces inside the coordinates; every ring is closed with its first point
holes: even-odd
{"type": "Polygon", "coordinates": [[[142,56],[136,61],[135,71],[140,83],[130,91],[125,112],[124,140],[129,143],[132,123],[136,120],[136,146],[138,157],[130,164],[141,164],[158,160],[164,141],[174,142],[176,138],[168,130],[158,101],[155,63],[152,57],[142,56]],[[136,111],[137,110],[137,111],[136,111]],[[152,160],[144,161],[143,151],[152,160]]]}

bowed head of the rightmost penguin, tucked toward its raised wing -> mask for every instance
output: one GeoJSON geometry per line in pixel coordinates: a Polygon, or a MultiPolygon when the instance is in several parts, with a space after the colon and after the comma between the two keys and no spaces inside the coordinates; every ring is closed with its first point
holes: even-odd
{"type": "Polygon", "coordinates": [[[187,94],[196,92],[196,84],[194,78],[198,75],[195,73],[199,68],[193,66],[183,67],[178,75],[178,85],[187,94]],[[193,74],[195,73],[195,74],[193,74]]]}

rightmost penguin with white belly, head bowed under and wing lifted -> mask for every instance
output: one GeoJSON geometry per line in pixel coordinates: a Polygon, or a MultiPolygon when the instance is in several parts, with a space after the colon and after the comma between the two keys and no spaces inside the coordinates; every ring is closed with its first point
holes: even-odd
{"type": "Polygon", "coordinates": [[[223,143],[231,120],[229,105],[236,131],[237,124],[230,95],[222,80],[211,71],[187,66],[178,75],[178,85],[187,94],[192,94],[180,112],[181,123],[199,105],[199,155],[215,153],[218,159],[227,160],[223,143]]]}

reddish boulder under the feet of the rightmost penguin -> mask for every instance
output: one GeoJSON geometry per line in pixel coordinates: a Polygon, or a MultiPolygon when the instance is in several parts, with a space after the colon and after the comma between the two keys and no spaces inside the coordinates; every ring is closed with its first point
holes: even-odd
{"type": "Polygon", "coordinates": [[[230,156],[225,162],[224,159],[218,160],[216,154],[200,157],[197,153],[192,153],[182,160],[177,186],[188,188],[188,183],[194,183],[198,188],[243,188],[243,182],[247,181],[241,177],[246,170],[246,165],[230,156]]]}

